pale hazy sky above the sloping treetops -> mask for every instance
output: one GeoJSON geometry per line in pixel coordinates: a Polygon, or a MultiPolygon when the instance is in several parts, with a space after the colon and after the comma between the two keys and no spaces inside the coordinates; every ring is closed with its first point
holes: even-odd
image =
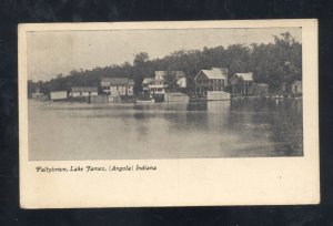
{"type": "Polygon", "coordinates": [[[132,63],[139,52],[155,59],[181,49],[269,43],[285,31],[302,42],[300,28],[29,32],[28,78],[47,81],[73,69],[132,63]]]}

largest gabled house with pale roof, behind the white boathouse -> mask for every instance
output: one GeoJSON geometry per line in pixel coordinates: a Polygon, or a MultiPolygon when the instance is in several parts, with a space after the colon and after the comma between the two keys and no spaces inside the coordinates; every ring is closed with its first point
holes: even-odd
{"type": "Polygon", "coordinates": [[[201,70],[194,78],[195,92],[206,94],[206,91],[224,91],[228,85],[228,69],[212,68],[201,70]]]}

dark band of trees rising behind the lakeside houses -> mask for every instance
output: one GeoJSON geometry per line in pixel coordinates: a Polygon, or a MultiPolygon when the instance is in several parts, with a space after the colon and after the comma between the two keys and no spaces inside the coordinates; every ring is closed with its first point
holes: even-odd
{"type": "Polygon", "coordinates": [[[149,59],[140,52],[132,64],[95,68],[92,70],[75,69],[69,74],[58,74],[50,81],[28,81],[28,93],[38,86],[40,92],[71,90],[72,86],[99,86],[102,78],[129,78],[134,80],[134,93],[142,91],[144,78],[154,76],[155,71],[183,71],[188,76],[188,91],[193,89],[193,79],[200,70],[228,68],[229,79],[236,72],[253,72],[254,82],[266,83],[272,91],[281,83],[302,80],[302,44],[290,32],[273,35],[272,43],[252,43],[250,45],[232,44],[203,48],[203,50],[179,50],[162,59],[149,59]]]}

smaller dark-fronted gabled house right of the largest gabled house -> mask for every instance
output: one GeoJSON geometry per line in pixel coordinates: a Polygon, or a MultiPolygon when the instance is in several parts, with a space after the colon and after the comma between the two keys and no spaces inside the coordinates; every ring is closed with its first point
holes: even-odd
{"type": "Polygon", "coordinates": [[[253,83],[253,73],[235,73],[230,79],[233,94],[249,94],[250,86],[253,83]]]}

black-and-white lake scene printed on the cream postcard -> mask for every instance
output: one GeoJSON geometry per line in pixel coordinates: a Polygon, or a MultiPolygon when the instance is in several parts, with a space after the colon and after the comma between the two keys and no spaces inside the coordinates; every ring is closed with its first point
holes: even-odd
{"type": "Polygon", "coordinates": [[[302,28],[27,33],[29,161],[303,156],[302,28]]]}

